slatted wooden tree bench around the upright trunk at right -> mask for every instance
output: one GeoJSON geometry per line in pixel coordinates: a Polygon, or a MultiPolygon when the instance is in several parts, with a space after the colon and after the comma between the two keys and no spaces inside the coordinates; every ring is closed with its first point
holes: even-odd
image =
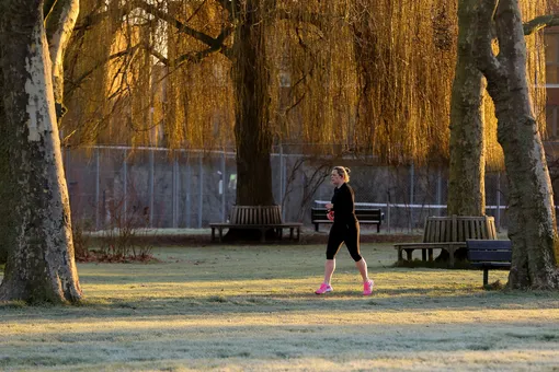
{"type": "Polygon", "coordinates": [[[422,260],[433,260],[433,249],[448,252],[448,266],[454,267],[454,254],[466,247],[467,240],[495,240],[495,221],[493,217],[427,217],[421,243],[395,244],[398,249],[398,263],[403,263],[403,252],[408,261],[412,260],[412,253],[421,251],[422,260]],[[429,257],[427,257],[429,255],[429,257]]]}

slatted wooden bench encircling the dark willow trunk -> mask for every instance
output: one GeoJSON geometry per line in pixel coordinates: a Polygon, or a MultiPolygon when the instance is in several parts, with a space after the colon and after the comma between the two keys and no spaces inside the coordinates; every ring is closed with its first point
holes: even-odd
{"type": "Polygon", "coordinates": [[[289,239],[300,239],[303,223],[282,222],[282,208],[280,206],[233,206],[230,214],[230,222],[210,223],[212,241],[215,241],[215,231],[218,231],[219,242],[224,237],[224,229],[251,229],[260,230],[260,241],[265,242],[266,231],[273,229],[280,240],[283,237],[283,230],[289,229],[289,239]],[[295,236],[295,232],[297,235],[295,236]]]}

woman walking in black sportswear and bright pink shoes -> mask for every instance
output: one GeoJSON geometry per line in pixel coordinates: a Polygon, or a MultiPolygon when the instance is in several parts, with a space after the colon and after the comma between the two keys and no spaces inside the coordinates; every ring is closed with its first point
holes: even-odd
{"type": "Polygon", "coordinates": [[[355,195],[351,186],[347,185],[350,182],[350,168],[334,166],[330,181],[335,188],[331,202],[327,204],[326,207],[329,219],[333,219],[334,223],[328,236],[324,281],[315,293],[323,294],[333,290],[330,281],[335,270],[335,255],[340,251],[342,243],[345,243],[363,279],[363,295],[369,295],[373,293],[374,282],[368,278],[367,263],[360,253],[360,223],[355,217],[355,195]]]}

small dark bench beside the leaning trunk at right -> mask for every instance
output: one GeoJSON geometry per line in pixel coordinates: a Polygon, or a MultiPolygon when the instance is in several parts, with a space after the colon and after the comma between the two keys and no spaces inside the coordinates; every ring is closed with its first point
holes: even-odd
{"type": "Polygon", "coordinates": [[[479,241],[467,240],[468,260],[471,266],[483,269],[483,287],[489,282],[489,270],[495,268],[511,268],[511,241],[479,241]]]}

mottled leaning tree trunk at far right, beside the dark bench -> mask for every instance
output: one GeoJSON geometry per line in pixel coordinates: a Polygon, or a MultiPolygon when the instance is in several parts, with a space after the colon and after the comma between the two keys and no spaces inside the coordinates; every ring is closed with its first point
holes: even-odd
{"type": "Polygon", "coordinates": [[[559,240],[552,189],[528,95],[518,1],[479,0],[478,7],[476,57],[495,105],[498,139],[503,147],[509,178],[513,260],[507,287],[559,289],[559,240]],[[491,49],[493,21],[498,56],[491,49]]]}

